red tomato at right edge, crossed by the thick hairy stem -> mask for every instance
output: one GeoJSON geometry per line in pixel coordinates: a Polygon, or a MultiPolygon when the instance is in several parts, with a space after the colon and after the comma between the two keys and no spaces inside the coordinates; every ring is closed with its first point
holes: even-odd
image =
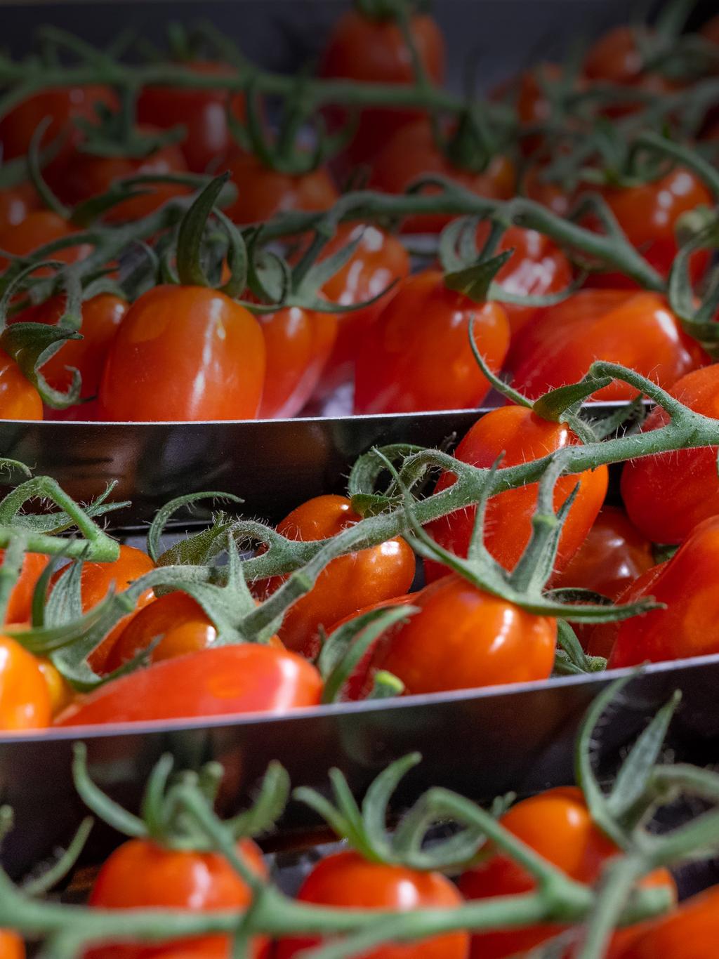
{"type": "MultiPolygon", "coordinates": [[[[669,392],[689,409],[719,419],[719,366],[693,370],[669,392]]],[[[642,431],[669,422],[655,407],[642,431]]],[[[642,456],[625,463],[621,495],[635,526],[655,543],[680,543],[702,520],[719,513],[716,447],[642,456]]]]}

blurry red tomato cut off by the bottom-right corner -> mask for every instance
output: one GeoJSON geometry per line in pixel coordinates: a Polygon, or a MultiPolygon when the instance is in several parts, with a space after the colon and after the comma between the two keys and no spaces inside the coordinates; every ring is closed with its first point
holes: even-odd
{"type": "Polygon", "coordinates": [[[666,916],[638,926],[641,934],[613,959],[714,959],[719,940],[719,887],[684,900],[666,916]]]}

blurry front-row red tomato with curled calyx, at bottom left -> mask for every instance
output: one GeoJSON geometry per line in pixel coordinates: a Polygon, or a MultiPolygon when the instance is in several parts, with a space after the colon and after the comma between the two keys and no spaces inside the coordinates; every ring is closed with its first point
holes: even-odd
{"type": "MultiPolygon", "coordinates": [[[[257,876],[266,877],[262,853],[251,839],[237,844],[238,854],[257,876]]],[[[244,909],[252,901],[244,880],[220,853],[166,849],[151,839],[130,839],[105,860],[90,893],[96,909],[184,909],[216,912],[244,909]]],[[[150,959],[177,949],[189,955],[229,955],[229,936],[202,936],[174,943],[104,945],[88,949],[85,959],[150,959]]],[[[253,959],[264,952],[253,943],[253,959]]]]}

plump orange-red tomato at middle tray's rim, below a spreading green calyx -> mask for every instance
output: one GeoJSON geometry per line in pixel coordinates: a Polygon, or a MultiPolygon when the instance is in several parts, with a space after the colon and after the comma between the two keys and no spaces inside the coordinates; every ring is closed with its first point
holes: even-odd
{"type": "Polygon", "coordinates": [[[457,575],[412,597],[419,606],[378,643],[373,666],[406,692],[470,690],[546,679],[554,666],[555,620],[525,613],[457,575]]]}

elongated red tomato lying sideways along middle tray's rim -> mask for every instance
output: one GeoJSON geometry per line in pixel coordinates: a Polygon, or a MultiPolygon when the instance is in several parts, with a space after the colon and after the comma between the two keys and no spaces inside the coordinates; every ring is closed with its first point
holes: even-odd
{"type": "Polygon", "coordinates": [[[317,670],[284,649],[214,646],[107,683],[61,713],[58,725],[284,713],[316,706],[321,690],[317,670]]]}

